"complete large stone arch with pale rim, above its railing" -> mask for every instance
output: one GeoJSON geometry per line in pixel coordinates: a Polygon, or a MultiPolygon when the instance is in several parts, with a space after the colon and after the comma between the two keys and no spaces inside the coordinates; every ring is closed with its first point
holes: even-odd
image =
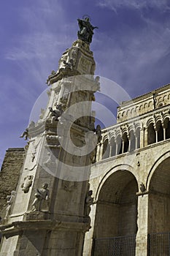
{"type": "Polygon", "coordinates": [[[137,191],[134,174],[123,165],[109,170],[96,193],[95,238],[136,234],[137,191]]]}

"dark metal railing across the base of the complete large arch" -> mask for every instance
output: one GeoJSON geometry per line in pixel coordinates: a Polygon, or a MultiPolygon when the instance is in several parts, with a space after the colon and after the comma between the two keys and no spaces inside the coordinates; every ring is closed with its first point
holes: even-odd
{"type": "Polygon", "coordinates": [[[93,239],[92,256],[135,256],[136,235],[93,239]]]}

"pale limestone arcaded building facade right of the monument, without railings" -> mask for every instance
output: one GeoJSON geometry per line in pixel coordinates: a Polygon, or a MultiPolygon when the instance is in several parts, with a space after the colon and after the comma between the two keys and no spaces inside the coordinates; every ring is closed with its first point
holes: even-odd
{"type": "MultiPolygon", "coordinates": [[[[170,85],[166,85],[123,102],[117,124],[102,130],[97,162],[91,168],[95,205],[84,256],[90,255],[93,238],[131,235],[136,236],[136,256],[147,256],[148,234],[170,231],[169,95],[170,85]]],[[[152,255],[163,255],[166,247],[160,248],[151,244],[152,255]]],[[[102,255],[99,251],[96,255],[102,255]]]]}

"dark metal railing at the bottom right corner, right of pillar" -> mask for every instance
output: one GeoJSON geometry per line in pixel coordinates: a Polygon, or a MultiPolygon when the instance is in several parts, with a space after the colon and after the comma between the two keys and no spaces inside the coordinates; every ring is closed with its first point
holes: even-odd
{"type": "Polygon", "coordinates": [[[170,233],[148,235],[148,256],[170,256],[170,233]]]}

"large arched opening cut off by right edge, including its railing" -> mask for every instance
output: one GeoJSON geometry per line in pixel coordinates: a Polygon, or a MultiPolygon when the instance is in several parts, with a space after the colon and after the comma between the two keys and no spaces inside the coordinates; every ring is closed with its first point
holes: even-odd
{"type": "Polygon", "coordinates": [[[150,180],[148,232],[150,255],[170,252],[170,157],[161,162],[150,180]]]}

